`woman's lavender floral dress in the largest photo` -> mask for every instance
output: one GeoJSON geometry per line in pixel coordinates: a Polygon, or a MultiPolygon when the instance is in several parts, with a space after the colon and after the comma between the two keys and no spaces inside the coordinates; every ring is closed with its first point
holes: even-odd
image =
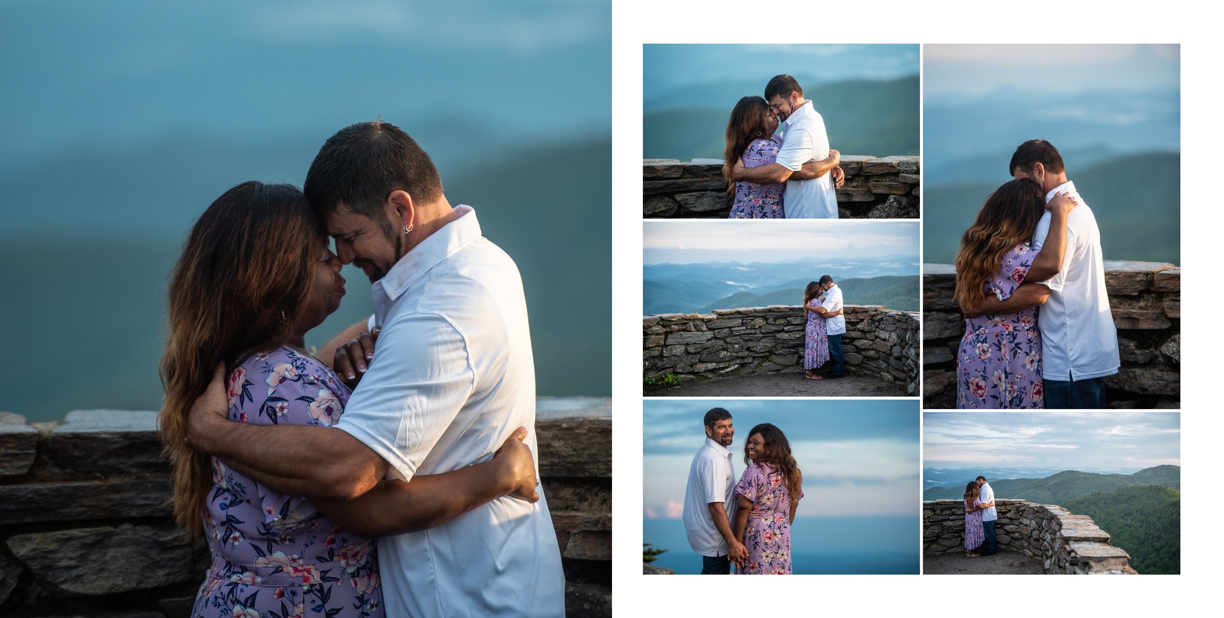
{"type": "MultiPolygon", "coordinates": [[[[350,394],[330,368],[290,348],[247,359],[228,392],[231,421],[321,427],[340,419],[350,394]]],[[[382,618],[372,540],[340,530],[305,498],[212,463],[203,518],[213,564],[193,618],[382,618]]]]}

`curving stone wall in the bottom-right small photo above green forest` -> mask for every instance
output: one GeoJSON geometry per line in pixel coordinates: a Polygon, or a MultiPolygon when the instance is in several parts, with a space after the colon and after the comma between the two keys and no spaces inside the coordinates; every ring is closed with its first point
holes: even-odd
{"type": "MultiPolygon", "coordinates": [[[[1049,574],[1135,574],[1131,556],[1109,545],[1109,532],[1088,515],[1072,515],[1056,504],[995,499],[1000,551],[1023,552],[1043,562],[1049,574]]],[[[923,554],[965,551],[965,503],[925,501],[922,510],[923,554]]]]}

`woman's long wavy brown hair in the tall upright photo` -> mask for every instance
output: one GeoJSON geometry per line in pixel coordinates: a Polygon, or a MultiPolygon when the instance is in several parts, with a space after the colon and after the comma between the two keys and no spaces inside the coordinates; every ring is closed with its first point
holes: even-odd
{"type": "Polygon", "coordinates": [[[1028,242],[1045,213],[1042,187],[1029,179],[1012,180],[990,193],[978,218],[961,236],[956,255],[956,291],[962,310],[976,310],[987,299],[985,284],[1002,264],[1002,257],[1028,242]]]}

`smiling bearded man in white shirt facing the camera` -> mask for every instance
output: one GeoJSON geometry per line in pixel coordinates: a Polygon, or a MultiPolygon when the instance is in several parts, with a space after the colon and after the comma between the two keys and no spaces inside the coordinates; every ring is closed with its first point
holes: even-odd
{"type": "Polygon", "coordinates": [[[684,490],[684,530],[689,545],[701,554],[703,575],[730,575],[731,563],[743,564],[748,548],[736,540],[736,471],[731,465],[731,412],[705,412],[705,444],[693,456],[684,490]]]}

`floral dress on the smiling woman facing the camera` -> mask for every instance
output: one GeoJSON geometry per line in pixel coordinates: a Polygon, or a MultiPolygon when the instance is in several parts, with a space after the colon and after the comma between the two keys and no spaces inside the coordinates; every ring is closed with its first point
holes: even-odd
{"type": "MultiPolygon", "coordinates": [[[[791,492],[782,474],[769,464],[753,464],[744,470],[736,494],[753,503],[744,526],[748,559],[737,568],[739,575],[791,574],[791,492]]],[[[799,493],[803,498],[803,493],[799,493]]]]}

